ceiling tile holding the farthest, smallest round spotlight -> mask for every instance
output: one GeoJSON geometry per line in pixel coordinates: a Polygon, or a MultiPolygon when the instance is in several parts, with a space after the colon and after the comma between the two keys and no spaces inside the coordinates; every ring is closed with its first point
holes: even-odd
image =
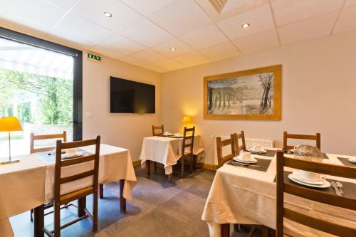
{"type": "Polygon", "coordinates": [[[194,51],[194,49],[184,43],[183,41],[179,41],[177,38],[173,38],[170,41],[166,41],[164,43],[160,43],[159,45],[152,47],[153,50],[158,53],[162,53],[167,57],[179,56],[184,53],[189,53],[194,51]],[[175,48],[175,51],[172,51],[171,48],[175,48]]]}

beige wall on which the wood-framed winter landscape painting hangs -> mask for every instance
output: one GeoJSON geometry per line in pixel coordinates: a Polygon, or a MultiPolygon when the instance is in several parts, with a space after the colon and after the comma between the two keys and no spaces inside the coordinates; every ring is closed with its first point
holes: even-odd
{"type": "Polygon", "coordinates": [[[165,73],[162,80],[165,128],[182,130],[182,117],[194,117],[209,164],[216,164],[211,135],[240,130],[246,137],[275,139],[277,147],[283,142],[283,130],[321,132],[324,152],[355,155],[355,102],[356,32],[165,73]],[[283,65],[281,121],[203,119],[204,76],[276,64],[283,65]]]}

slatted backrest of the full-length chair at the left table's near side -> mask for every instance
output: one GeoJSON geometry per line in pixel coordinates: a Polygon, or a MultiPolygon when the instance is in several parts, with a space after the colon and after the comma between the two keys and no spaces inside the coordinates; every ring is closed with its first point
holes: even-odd
{"type": "Polygon", "coordinates": [[[99,174],[99,154],[100,154],[100,136],[96,139],[90,139],[79,142],[67,142],[63,143],[61,140],[57,141],[56,145],[56,166],[55,166],[55,179],[54,179],[54,201],[55,204],[66,204],[69,201],[74,201],[80,197],[86,196],[88,194],[93,194],[98,192],[98,174],[99,174]],[[94,154],[85,154],[82,157],[62,159],[63,149],[72,149],[78,147],[85,147],[95,145],[94,154]],[[63,167],[73,166],[75,164],[82,164],[85,162],[93,161],[93,169],[86,170],[85,172],[80,172],[78,174],[73,174],[68,177],[61,177],[61,172],[63,167]],[[70,192],[70,195],[61,195],[61,184],[66,184],[71,181],[80,180],[85,177],[93,176],[93,184],[84,187],[77,191],[70,192]],[[66,196],[66,198],[63,198],[66,196]]]}

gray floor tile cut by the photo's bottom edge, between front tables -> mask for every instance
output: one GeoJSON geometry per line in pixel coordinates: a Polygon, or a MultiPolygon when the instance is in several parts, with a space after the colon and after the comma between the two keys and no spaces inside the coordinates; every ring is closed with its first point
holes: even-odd
{"type": "Polygon", "coordinates": [[[115,237],[189,237],[193,234],[194,229],[156,209],[115,237]]]}

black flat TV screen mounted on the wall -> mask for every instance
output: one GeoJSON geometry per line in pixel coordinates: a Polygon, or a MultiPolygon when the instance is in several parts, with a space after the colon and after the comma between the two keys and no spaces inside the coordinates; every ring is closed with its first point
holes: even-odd
{"type": "Polygon", "coordinates": [[[155,85],[110,77],[110,112],[155,113],[155,85]]]}

